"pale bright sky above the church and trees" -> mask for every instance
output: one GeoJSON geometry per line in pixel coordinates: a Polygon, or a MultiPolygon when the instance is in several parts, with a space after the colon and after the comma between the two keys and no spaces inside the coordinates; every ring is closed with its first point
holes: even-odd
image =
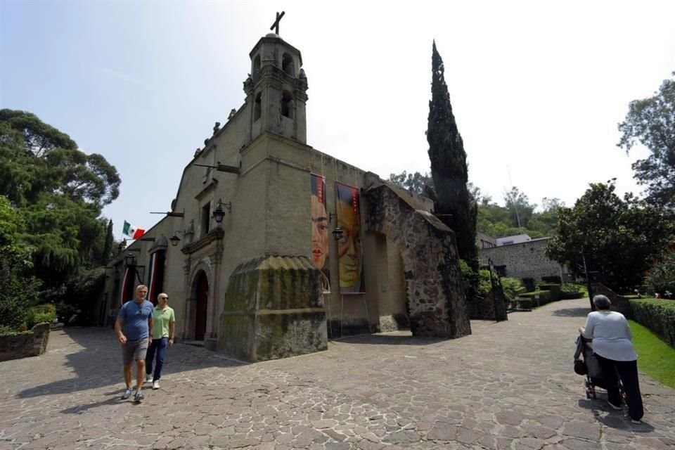
{"type": "Polygon", "coordinates": [[[101,153],[122,177],[103,214],[150,228],[184,166],[244,101],[249,51],[285,11],[302,52],[307,143],[387,178],[428,172],[432,39],[469,179],[503,204],[567,205],[591,182],[641,193],[617,148],[628,104],[675,70],[675,1],[0,3],[0,107],[101,153]],[[407,5],[407,6],[403,6],[407,5]]]}

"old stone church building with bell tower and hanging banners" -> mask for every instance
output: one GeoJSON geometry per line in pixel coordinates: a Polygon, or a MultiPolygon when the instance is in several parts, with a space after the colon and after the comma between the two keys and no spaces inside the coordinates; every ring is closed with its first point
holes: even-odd
{"type": "Polygon", "coordinates": [[[171,209],[110,264],[100,311],[169,295],[179,341],[243,361],[410,329],[471,333],[454,232],[412,195],[307,143],[300,51],[250,51],[245,101],[186,165],[171,209]]]}

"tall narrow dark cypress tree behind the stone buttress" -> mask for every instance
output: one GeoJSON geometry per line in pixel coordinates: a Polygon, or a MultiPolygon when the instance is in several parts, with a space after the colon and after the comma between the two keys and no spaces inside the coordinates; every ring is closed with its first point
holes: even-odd
{"type": "MultiPolygon", "coordinates": [[[[466,187],[468,167],[464,143],[452,113],[443,60],[436,50],[435,41],[431,67],[427,141],[436,194],[435,209],[439,219],[455,232],[459,257],[477,272],[478,250],[475,240],[478,206],[466,187]]],[[[471,293],[467,294],[472,297],[471,293]]]]}

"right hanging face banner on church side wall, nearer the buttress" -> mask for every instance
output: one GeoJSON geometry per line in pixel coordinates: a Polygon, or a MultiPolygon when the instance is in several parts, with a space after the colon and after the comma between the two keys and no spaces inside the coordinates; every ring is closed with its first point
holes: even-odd
{"type": "Polygon", "coordinates": [[[364,293],[359,188],[335,182],[335,210],[342,237],[338,240],[340,293],[364,293]]]}

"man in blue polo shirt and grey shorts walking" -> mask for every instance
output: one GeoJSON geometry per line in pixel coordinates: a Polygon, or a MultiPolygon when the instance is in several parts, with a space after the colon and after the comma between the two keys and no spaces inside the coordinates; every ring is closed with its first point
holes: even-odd
{"type": "Polygon", "coordinates": [[[122,344],[122,363],[124,364],[124,383],[127,388],[122,394],[122,400],[131,397],[131,363],[136,360],[136,395],[135,401],[143,399],[143,375],[146,372],[146,352],[153,336],[153,304],[146,300],[148,288],[146,285],[136,286],[134,300],[129,300],[120,308],[115,321],[117,340],[122,344]]]}

